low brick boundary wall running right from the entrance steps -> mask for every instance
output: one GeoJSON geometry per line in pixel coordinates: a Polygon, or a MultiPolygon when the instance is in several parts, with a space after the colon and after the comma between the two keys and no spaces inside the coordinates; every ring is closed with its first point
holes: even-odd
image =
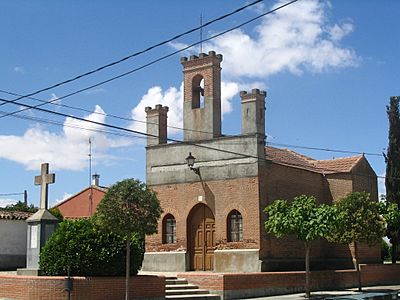
{"type": "MultiPolygon", "coordinates": [[[[361,265],[363,286],[400,284],[400,265],[361,265]]],[[[200,288],[217,292],[224,299],[268,296],[304,291],[305,272],[263,272],[239,274],[182,273],[200,288]]],[[[356,270],[311,272],[312,290],[334,290],[357,286],[356,270]]]]}

